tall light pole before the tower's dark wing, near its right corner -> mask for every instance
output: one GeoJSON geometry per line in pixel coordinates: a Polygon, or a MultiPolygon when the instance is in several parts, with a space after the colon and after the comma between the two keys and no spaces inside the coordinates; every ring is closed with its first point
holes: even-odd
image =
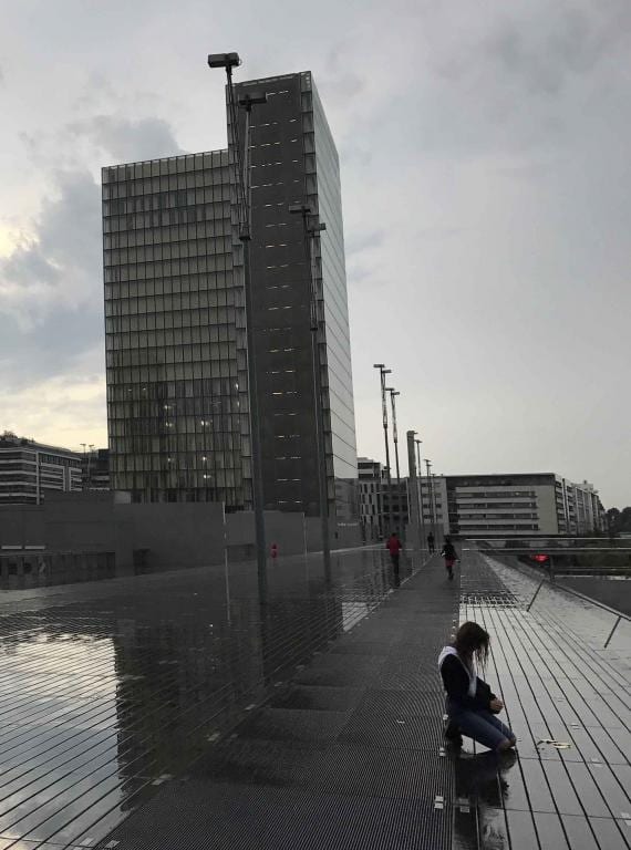
{"type": "MultiPolygon", "coordinates": [[[[309,321],[311,329],[311,360],[313,364],[313,396],[316,402],[316,443],[318,463],[318,495],[320,500],[320,529],[322,537],[322,557],[327,579],[331,574],[331,540],[329,528],[329,480],[327,475],[327,434],[324,428],[324,404],[322,400],[322,373],[320,365],[319,331],[323,317],[320,317],[319,292],[313,268],[313,242],[318,234],[327,229],[327,225],[318,220],[318,216],[308,204],[290,204],[289,211],[302,217],[302,231],[307,262],[309,266],[309,321]]],[[[322,334],[322,342],[323,342],[322,334]]]]}

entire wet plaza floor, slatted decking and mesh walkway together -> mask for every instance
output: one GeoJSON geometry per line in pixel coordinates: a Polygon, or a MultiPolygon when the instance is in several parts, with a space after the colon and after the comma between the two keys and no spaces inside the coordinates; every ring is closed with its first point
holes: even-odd
{"type": "Polygon", "coordinates": [[[3,594],[0,850],[629,847],[627,625],[603,650],[610,614],[548,588],[528,612],[536,579],[470,550],[462,587],[413,567],[3,594]],[[442,750],[458,611],[493,635],[513,763],[442,750]]]}

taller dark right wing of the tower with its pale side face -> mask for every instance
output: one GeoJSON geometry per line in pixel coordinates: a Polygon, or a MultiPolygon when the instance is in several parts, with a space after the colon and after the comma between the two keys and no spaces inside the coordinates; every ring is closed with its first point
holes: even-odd
{"type": "Polygon", "coordinates": [[[310,330],[311,269],[302,217],[327,225],[313,240],[319,293],[318,359],[324,410],[330,510],[358,522],[356,449],[339,163],[309,72],[238,86],[265,92],[249,149],[251,270],[266,507],[319,514],[316,395],[310,330]]]}

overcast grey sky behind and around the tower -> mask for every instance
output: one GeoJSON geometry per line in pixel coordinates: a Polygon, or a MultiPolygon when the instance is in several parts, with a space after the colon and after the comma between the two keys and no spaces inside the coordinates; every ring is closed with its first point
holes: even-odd
{"type": "MultiPolygon", "coordinates": [[[[358,450],[631,504],[629,0],[1,0],[0,431],[106,445],[100,168],[224,147],[311,70],[341,157],[358,450]]],[[[406,467],[406,465],[405,465],[406,467]]]]}

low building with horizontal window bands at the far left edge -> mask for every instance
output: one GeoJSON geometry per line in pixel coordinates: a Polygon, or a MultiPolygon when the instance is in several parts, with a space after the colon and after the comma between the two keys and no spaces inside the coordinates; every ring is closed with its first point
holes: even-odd
{"type": "Polygon", "coordinates": [[[0,505],[40,505],[50,490],[81,490],[80,455],[4,432],[0,436],[0,505]]]}

